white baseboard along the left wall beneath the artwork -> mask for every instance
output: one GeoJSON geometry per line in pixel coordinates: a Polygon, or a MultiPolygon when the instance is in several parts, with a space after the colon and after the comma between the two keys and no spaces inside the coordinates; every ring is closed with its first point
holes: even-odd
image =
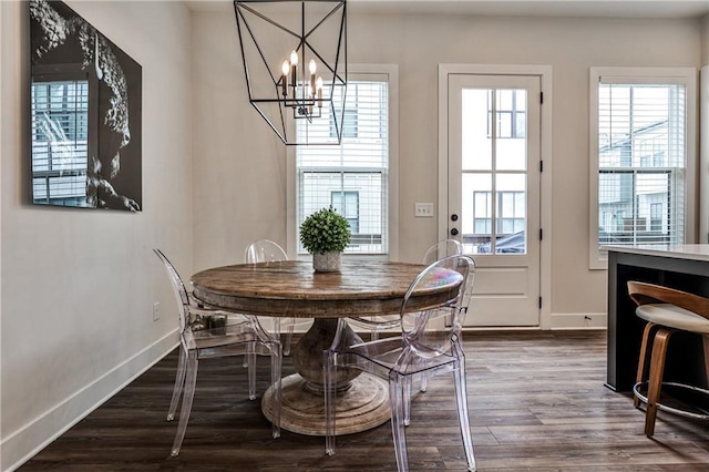
{"type": "Polygon", "coordinates": [[[0,470],[11,472],[29,461],[71,427],[121,391],[172,351],[178,342],[177,330],[135,353],[56,407],[13,431],[0,442],[0,470]],[[9,464],[9,465],[6,465],[9,464]]]}

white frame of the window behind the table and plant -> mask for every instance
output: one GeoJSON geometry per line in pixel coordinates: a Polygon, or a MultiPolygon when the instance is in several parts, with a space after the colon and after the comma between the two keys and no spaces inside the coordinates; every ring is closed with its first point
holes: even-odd
{"type": "MultiPolygon", "coordinates": [[[[395,64],[348,64],[348,80],[368,80],[387,78],[389,85],[389,167],[387,173],[388,187],[388,234],[389,252],[386,254],[343,254],[346,258],[366,258],[379,260],[398,260],[399,257],[399,68],[395,64]]],[[[296,166],[297,146],[287,148],[287,178],[286,178],[286,252],[291,259],[307,258],[307,255],[298,254],[298,220],[297,179],[296,166]]]]}

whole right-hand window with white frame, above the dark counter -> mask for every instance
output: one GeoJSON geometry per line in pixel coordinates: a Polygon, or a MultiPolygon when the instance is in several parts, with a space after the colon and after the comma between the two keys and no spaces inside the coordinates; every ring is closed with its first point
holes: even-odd
{"type": "Polygon", "coordinates": [[[695,76],[592,69],[592,268],[603,245],[693,239],[695,76]]]}

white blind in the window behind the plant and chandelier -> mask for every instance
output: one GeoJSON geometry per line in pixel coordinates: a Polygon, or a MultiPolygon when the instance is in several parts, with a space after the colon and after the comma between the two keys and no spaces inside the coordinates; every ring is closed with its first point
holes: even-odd
{"type": "MultiPolygon", "coordinates": [[[[298,120],[319,141],[337,141],[333,121],[298,120]]],[[[297,226],[311,213],[332,205],[352,229],[348,254],[387,254],[389,171],[389,86],[381,80],[349,80],[340,145],[298,146],[297,226]]],[[[298,254],[306,253],[298,243],[298,254]]]]}

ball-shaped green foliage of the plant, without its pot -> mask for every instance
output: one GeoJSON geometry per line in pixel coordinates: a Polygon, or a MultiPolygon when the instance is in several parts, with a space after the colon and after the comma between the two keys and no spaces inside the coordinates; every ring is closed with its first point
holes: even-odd
{"type": "Polygon", "coordinates": [[[350,244],[350,224],[330,205],[300,224],[300,243],[310,254],[341,253],[350,244]]]}

